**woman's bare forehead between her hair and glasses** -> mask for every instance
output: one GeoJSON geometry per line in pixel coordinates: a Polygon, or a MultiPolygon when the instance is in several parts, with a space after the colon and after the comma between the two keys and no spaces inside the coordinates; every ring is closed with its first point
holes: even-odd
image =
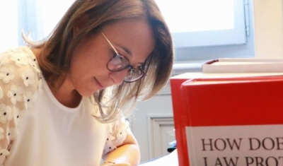
{"type": "Polygon", "coordinates": [[[103,28],[103,32],[115,47],[138,55],[144,61],[155,47],[151,26],[144,18],[129,18],[116,21],[103,28]]]}

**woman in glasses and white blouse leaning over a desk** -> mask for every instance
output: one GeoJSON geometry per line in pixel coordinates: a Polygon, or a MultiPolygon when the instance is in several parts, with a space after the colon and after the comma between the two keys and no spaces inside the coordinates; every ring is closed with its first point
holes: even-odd
{"type": "Polygon", "coordinates": [[[77,0],[50,37],[0,56],[3,165],[138,165],[125,117],[160,90],[171,35],[154,0],[77,0]]]}

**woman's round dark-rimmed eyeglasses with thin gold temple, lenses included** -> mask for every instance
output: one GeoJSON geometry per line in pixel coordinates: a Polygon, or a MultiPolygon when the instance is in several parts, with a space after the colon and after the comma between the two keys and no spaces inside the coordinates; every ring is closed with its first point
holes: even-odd
{"type": "Polygon", "coordinates": [[[137,69],[134,69],[134,67],[129,64],[129,60],[126,57],[119,54],[117,50],[114,48],[114,46],[111,44],[111,42],[108,40],[108,38],[104,35],[104,33],[101,30],[100,32],[105,37],[105,40],[107,40],[107,42],[115,52],[114,57],[112,57],[112,59],[110,59],[107,63],[107,69],[109,71],[117,72],[117,71],[129,69],[127,76],[125,76],[124,78],[124,81],[126,83],[132,83],[134,81],[138,81],[139,79],[146,76],[146,73],[141,69],[142,68],[141,66],[138,66],[137,69]]]}

